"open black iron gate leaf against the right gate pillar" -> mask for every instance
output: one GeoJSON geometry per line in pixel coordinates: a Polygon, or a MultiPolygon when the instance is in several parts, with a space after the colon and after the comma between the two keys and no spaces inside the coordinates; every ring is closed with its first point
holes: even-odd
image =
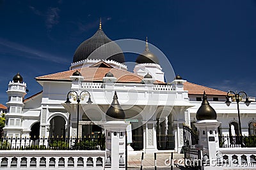
{"type": "Polygon", "coordinates": [[[185,166],[201,169],[201,151],[195,147],[195,145],[198,145],[198,134],[189,125],[185,124],[183,124],[183,141],[185,166]]]}

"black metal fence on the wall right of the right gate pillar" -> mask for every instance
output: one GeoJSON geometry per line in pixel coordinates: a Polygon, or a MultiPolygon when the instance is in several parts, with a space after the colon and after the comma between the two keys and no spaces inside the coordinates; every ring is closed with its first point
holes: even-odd
{"type": "Polygon", "coordinates": [[[219,136],[220,148],[256,147],[256,136],[219,136]]]}

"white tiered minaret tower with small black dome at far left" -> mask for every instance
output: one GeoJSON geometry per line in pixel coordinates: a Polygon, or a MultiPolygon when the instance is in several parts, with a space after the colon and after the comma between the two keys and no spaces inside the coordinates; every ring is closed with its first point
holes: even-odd
{"type": "Polygon", "coordinates": [[[9,138],[22,137],[23,99],[26,95],[26,87],[27,85],[23,82],[23,78],[19,73],[8,84],[8,102],[6,103],[8,111],[5,115],[6,126],[4,127],[4,136],[9,138]]]}

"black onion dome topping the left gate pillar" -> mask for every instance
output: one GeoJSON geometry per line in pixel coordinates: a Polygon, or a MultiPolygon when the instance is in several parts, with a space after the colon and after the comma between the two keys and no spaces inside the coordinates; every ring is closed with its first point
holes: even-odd
{"type": "Polygon", "coordinates": [[[106,115],[108,115],[106,117],[106,119],[109,120],[115,120],[115,119],[125,119],[125,113],[124,110],[122,110],[120,104],[118,103],[118,97],[116,95],[116,92],[114,94],[113,97],[113,101],[111,103],[111,106],[108,108],[108,111],[106,113],[106,115]]]}

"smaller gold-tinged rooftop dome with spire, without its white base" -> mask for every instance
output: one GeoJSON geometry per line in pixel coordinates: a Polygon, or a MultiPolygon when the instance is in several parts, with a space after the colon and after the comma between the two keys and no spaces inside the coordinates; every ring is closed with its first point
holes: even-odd
{"type": "Polygon", "coordinates": [[[143,64],[143,63],[155,63],[159,64],[159,60],[157,59],[156,55],[154,53],[150,52],[148,50],[148,39],[146,39],[146,48],[143,53],[141,53],[137,59],[136,62],[138,64],[143,64]]]}

